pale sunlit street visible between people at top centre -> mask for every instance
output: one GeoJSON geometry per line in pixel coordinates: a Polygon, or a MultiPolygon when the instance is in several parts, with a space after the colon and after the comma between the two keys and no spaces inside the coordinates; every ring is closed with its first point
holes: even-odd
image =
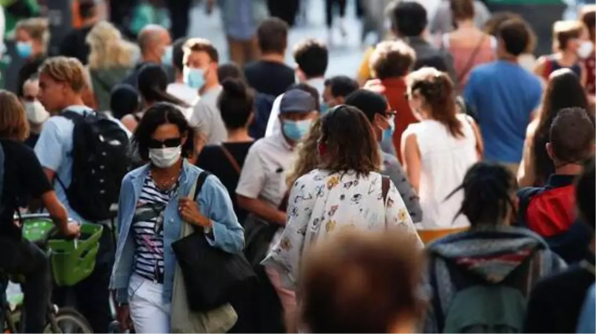
{"type": "MultiPolygon", "coordinates": [[[[278,0],[283,1],[283,0],[278,0]]],[[[355,17],[353,1],[348,1],[346,10],[346,29],[348,37],[343,42],[339,32],[336,33],[336,47],[330,49],[330,61],[327,76],[346,74],[355,76],[362,57],[360,46],[360,22],[355,17]]],[[[288,64],[293,64],[291,48],[296,42],[304,38],[319,38],[327,40],[327,29],[325,27],[325,7],[322,0],[309,0],[308,23],[298,24],[290,32],[289,48],[287,52],[288,64]]],[[[193,8],[191,13],[190,36],[203,37],[211,40],[220,52],[223,62],[228,61],[227,43],[221,27],[220,15],[215,11],[207,16],[205,9],[201,6],[193,8]]],[[[337,30],[337,29],[336,29],[337,30]]]]}

